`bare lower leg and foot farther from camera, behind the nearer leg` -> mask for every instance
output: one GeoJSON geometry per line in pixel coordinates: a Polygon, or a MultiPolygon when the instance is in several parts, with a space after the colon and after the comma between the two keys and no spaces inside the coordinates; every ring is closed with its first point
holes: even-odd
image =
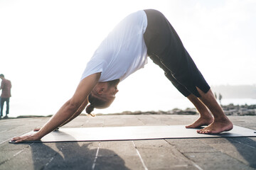
{"type": "Polygon", "coordinates": [[[210,111],[195,95],[190,94],[187,98],[196,107],[200,117],[191,125],[186,125],[186,128],[198,128],[203,125],[210,125],[210,123],[213,123],[213,117],[210,114],[210,111]]]}

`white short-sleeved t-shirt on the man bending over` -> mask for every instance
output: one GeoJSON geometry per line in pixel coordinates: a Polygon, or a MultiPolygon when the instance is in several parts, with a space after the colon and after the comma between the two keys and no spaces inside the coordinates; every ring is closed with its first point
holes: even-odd
{"type": "Polygon", "coordinates": [[[147,63],[143,34],[147,18],[137,11],[124,18],[102,41],[87,63],[82,78],[101,72],[100,81],[126,79],[147,63]]]}

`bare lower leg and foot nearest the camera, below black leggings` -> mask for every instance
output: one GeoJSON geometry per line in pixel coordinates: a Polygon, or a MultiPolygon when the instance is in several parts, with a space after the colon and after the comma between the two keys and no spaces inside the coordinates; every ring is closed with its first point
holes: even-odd
{"type": "Polygon", "coordinates": [[[198,133],[220,133],[233,129],[233,123],[230,122],[228,117],[223,112],[223,109],[220,107],[218,102],[213,95],[213,92],[209,90],[206,94],[198,89],[198,93],[201,95],[199,99],[203,102],[204,105],[210,110],[213,114],[214,120],[213,123],[208,125],[206,128],[198,130],[198,133]]]}

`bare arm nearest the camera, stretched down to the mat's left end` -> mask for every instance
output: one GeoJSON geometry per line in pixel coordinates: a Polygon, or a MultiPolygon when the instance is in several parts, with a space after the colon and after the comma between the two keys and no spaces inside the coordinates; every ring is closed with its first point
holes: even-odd
{"type": "Polygon", "coordinates": [[[90,94],[99,79],[100,73],[92,74],[89,77],[82,79],[80,84],[78,84],[78,88],[76,89],[73,97],[67,101],[45,125],[43,125],[41,130],[33,135],[14,137],[11,141],[23,142],[28,140],[41,140],[43,136],[47,135],[49,132],[52,132],[60,125],[63,125],[63,123],[68,121],[70,118],[73,118],[74,113],[78,111],[80,106],[86,103],[85,101],[87,100],[87,96],[90,94]]]}

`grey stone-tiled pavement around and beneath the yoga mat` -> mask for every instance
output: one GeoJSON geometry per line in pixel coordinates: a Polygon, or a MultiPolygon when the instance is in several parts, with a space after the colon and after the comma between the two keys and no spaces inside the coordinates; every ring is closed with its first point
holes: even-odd
{"type": "MultiPolygon", "coordinates": [[[[65,125],[186,125],[196,115],[80,116],[65,125]]],[[[230,116],[256,130],[256,116],[230,116]]],[[[0,120],[0,169],[256,169],[256,137],[9,144],[48,118],[0,120]]]]}

